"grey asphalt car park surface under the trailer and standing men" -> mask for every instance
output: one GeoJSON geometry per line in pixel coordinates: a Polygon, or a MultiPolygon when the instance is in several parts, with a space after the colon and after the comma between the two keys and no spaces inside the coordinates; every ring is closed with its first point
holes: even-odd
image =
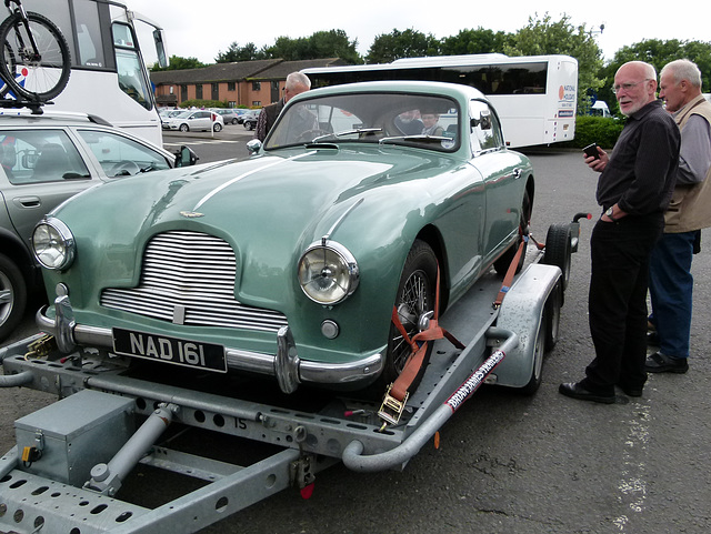
{"type": "MultiPolygon", "coordinates": [[[[234,137],[228,141],[246,142],[230,128],[241,127],[226,128],[226,135],[234,137]]],[[[172,142],[173,135],[166,140],[172,142]]],[[[224,153],[234,151],[232,144],[217,144],[224,153]]],[[[578,151],[529,154],[537,173],[532,228],[539,241],[549,224],[568,222],[577,212],[599,216],[597,175],[578,151]]],[[[558,393],[561,382],[583,376],[593,356],[587,323],[592,224],[582,222],[561,336],[534,396],[484,386],[441,429],[439,449],[425,446],[404,471],[359,474],[339,464],[317,476],[310,500],[284,491],[203,532],[710,532],[711,232],[703,232],[703,250],[693,262],[689,373],[651,375],[641,397],[620,392],[615,404],[602,405],[558,393]]],[[[13,339],[32,331],[28,316],[13,339]]],[[[1,390],[0,449],[13,445],[17,417],[52,400],[34,391],[1,390]]]]}

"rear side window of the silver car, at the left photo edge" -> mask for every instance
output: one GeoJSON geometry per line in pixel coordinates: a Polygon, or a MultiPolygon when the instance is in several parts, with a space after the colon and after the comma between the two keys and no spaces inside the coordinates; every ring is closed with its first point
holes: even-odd
{"type": "Polygon", "coordinates": [[[4,173],[16,185],[91,178],[63,130],[4,130],[0,148],[4,173]]]}

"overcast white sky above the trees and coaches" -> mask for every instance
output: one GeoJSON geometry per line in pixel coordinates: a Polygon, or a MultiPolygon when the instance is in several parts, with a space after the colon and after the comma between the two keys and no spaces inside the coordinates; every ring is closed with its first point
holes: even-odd
{"type": "MultiPolygon", "coordinates": [[[[463,29],[482,27],[493,31],[515,32],[529,17],[542,19],[549,13],[559,21],[568,14],[573,26],[584,23],[595,33],[604,59],[612,59],[620,48],[643,39],[711,41],[708,13],[698,17],[684,10],[659,4],[599,0],[595,2],[552,0],[474,1],[448,0],[359,0],[353,2],[298,2],[286,0],[123,0],[129,9],[153,19],[166,30],[168,56],[197,58],[213,63],[219,52],[232,42],[257,49],[273,44],[279,37],[298,39],[317,31],[343,30],[358,40],[358,51],[365,56],[375,37],[414,29],[438,39],[455,36],[463,29]]],[[[692,3],[680,4],[687,11],[692,3]]],[[[146,47],[144,47],[146,48],[146,47]]],[[[147,58],[150,60],[150,58],[147,58]]]]}

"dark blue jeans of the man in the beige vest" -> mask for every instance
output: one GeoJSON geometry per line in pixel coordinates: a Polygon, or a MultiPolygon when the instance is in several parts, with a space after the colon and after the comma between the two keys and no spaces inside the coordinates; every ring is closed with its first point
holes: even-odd
{"type": "Polygon", "coordinates": [[[693,293],[691,259],[695,238],[697,231],[665,233],[652,251],[650,321],[657,328],[659,352],[665,356],[689,357],[693,293]]]}

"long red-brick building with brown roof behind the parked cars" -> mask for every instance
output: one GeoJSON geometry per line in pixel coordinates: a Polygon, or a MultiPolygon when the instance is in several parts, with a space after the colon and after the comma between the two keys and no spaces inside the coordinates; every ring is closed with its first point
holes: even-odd
{"type": "Polygon", "coordinates": [[[261,108],[283,94],[287,75],[309,67],[346,64],[338,58],[303,61],[268,59],[216,63],[202,69],[151,72],[158,105],[179,105],[187,100],[219,100],[228,107],[261,108]]]}

